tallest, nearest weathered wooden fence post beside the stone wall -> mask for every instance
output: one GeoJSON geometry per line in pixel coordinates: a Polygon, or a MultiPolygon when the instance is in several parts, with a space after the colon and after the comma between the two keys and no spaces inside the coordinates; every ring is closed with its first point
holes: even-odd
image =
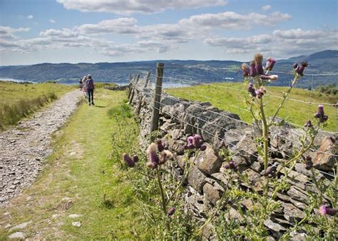
{"type": "Polygon", "coordinates": [[[153,106],[153,116],[151,118],[150,133],[158,129],[158,119],[160,118],[160,97],[162,93],[164,63],[158,63],[156,66],[155,96],[153,106]]]}

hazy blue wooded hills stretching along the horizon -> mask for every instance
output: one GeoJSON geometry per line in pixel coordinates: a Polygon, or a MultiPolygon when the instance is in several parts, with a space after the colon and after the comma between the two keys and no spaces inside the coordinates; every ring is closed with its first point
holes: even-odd
{"type": "MultiPolygon", "coordinates": [[[[274,68],[279,74],[277,86],[288,86],[292,78],[292,63],[307,61],[305,71],[298,87],[314,88],[324,84],[337,83],[338,51],[327,50],[312,53],[309,56],[297,56],[279,60],[274,68]],[[325,73],[325,76],[307,76],[309,73],[325,73]],[[333,73],[333,75],[331,75],[333,73]]],[[[24,81],[60,83],[77,83],[90,73],[96,81],[126,83],[130,74],[144,75],[148,71],[155,76],[156,63],[165,64],[164,81],[193,83],[190,81],[210,83],[218,81],[242,81],[239,61],[138,61],[121,63],[39,63],[31,66],[0,66],[0,78],[15,78],[24,81]],[[188,81],[185,81],[188,80],[188,81]]]]}

